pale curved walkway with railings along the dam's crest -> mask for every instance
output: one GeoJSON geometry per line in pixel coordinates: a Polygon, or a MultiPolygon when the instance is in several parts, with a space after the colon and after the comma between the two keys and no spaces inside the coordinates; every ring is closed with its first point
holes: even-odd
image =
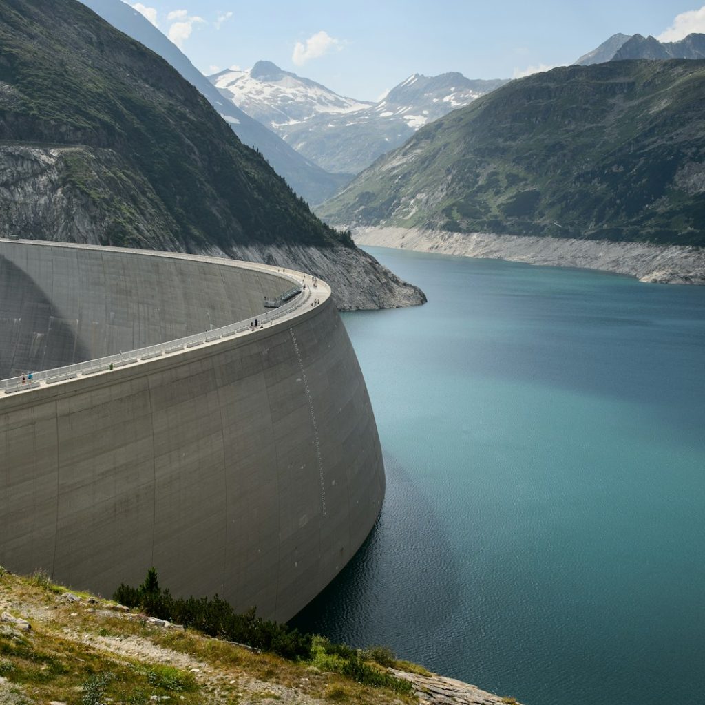
{"type": "MultiPolygon", "coordinates": [[[[10,240],[13,243],[23,243],[27,245],[41,245],[45,244],[42,241],[33,240],[10,240]]],[[[71,248],[86,249],[86,250],[97,250],[97,246],[92,245],[68,245],[68,243],[51,243],[52,247],[66,245],[71,248]]],[[[111,249],[111,248],[104,248],[111,249]]],[[[112,248],[118,252],[130,252],[135,255],[148,255],[150,257],[171,257],[173,259],[200,259],[203,262],[213,262],[214,264],[225,264],[226,266],[240,266],[244,269],[255,269],[259,271],[266,271],[270,274],[276,274],[282,278],[286,278],[289,281],[295,281],[297,286],[287,290],[283,298],[288,298],[283,305],[279,305],[277,308],[271,308],[269,310],[263,310],[262,314],[257,314],[257,327],[264,325],[271,325],[274,321],[279,319],[288,318],[298,310],[305,307],[309,299],[311,298],[311,288],[303,288],[305,286],[305,280],[308,278],[309,281],[312,280],[312,275],[307,275],[302,272],[295,272],[293,270],[286,270],[281,267],[274,267],[267,264],[259,264],[257,262],[240,262],[238,260],[224,259],[220,257],[204,257],[200,255],[183,255],[180,252],[157,252],[152,250],[133,250],[123,247],[112,248]],[[294,298],[290,296],[297,292],[298,294],[294,298]]],[[[329,286],[323,281],[317,280],[317,292],[320,291],[320,298],[324,300],[330,295],[329,286]]],[[[266,302],[269,301],[265,298],[266,302]]],[[[40,370],[34,372],[32,370],[27,370],[27,373],[23,375],[18,375],[14,377],[9,377],[8,379],[0,380],[0,391],[5,394],[12,394],[16,392],[29,391],[30,389],[42,386],[42,384],[55,384],[56,382],[68,381],[75,379],[79,375],[90,375],[97,374],[99,372],[111,372],[117,367],[123,367],[128,364],[136,364],[137,362],[147,362],[148,360],[154,360],[157,357],[163,355],[172,355],[173,353],[180,353],[183,350],[190,350],[191,348],[196,348],[199,345],[205,345],[207,343],[214,343],[221,340],[221,338],[229,338],[230,336],[235,336],[240,333],[255,332],[252,329],[252,320],[255,316],[248,317],[242,321],[237,321],[228,326],[220,326],[219,328],[214,328],[209,331],[204,331],[203,333],[195,333],[191,336],[184,336],[183,338],[175,338],[171,341],[166,341],[165,343],[157,343],[157,345],[147,345],[144,348],[139,348],[136,350],[126,350],[124,352],[119,352],[114,355],[107,355],[105,357],[99,357],[94,360],[87,360],[85,362],[76,362],[75,364],[63,365],[62,367],[55,367],[54,369],[40,370]],[[27,379],[27,374],[32,374],[31,379],[27,379]]]]}

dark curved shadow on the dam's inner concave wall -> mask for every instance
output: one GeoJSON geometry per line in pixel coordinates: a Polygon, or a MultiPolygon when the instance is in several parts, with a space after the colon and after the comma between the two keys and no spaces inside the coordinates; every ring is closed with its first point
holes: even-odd
{"type": "Polygon", "coordinates": [[[77,326],[31,276],[0,255],[0,379],[90,360],[77,326]]]}

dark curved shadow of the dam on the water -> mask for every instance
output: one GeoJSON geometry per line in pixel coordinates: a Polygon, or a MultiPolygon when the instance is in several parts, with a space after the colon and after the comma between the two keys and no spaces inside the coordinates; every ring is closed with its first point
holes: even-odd
{"type": "Polygon", "coordinates": [[[384,465],[387,492],[372,533],[341,575],[290,624],[351,646],[385,644],[408,658],[415,656],[410,640],[424,644],[419,651],[424,656],[429,644],[438,644],[440,662],[448,614],[460,602],[455,556],[433,505],[412,477],[390,455],[384,465]],[[441,594],[442,601],[429,600],[441,594]]]}

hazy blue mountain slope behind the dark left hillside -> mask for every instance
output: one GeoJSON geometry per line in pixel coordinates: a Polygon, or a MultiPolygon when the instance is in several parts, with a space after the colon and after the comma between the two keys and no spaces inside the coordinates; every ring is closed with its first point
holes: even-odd
{"type": "Polygon", "coordinates": [[[253,119],[233,102],[224,99],[175,44],[122,0],[82,0],[82,4],[90,7],[121,32],[125,32],[128,37],[137,39],[137,42],[166,59],[207,98],[240,140],[253,149],[259,149],[274,170],[308,202],[320,203],[326,200],[350,180],[346,176],[327,173],[289,147],[281,137],[268,130],[262,121],[253,119]]]}

